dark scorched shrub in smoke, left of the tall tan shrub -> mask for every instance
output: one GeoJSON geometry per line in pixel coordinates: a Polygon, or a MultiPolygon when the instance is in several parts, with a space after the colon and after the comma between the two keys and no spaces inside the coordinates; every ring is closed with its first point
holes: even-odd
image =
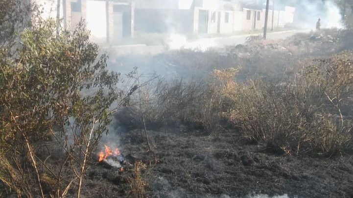
{"type": "MultiPolygon", "coordinates": [[[[184,123],[202,126],[208,131],[216,128],[219,119],[219,94],[204,81],[159,79],[157,86],[144,94],[143,113],[148,126],[184,123]]],[[[212,87],[213,86],[213,87],[212,87]]]]}

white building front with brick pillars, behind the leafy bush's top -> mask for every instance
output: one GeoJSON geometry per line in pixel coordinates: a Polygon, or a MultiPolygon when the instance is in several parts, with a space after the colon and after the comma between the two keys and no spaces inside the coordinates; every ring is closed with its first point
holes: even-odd
{"type": "MultiPolygon", "coordinates": [[[[57,19],[58,0],[30,0],[40,5],[43,19],[57,19]]],[[[133,18],[131,4],[124,5],[121,12],[114,13],[114,1],[108,0],[59,0],[60,19],[63,27],[71,31],[81,19],[84,19],[94,41],[105,42],[120,40],[124,34],[133,34],[133,18]]],[[[183,20],[182,20],[183,21],[183,20]]],[[[191,20],[192,22],[192,20],[191,20]]],[[[192,30],[192,26],[189,27],[192,30]]]]}

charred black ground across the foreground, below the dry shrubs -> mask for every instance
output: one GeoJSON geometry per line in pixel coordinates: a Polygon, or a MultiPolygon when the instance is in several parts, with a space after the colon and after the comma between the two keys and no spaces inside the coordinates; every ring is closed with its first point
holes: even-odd
{"type": "MultiPolygon", "coordinates": [[[[183,125],[148,131],[152,152],[142,134],[136,129],[119,134],[120,150],[131,163],[148,165],[144,177],[150,198],[353,198],[353,157],[348,154],[320,158],[271,153],[239,132],[210,135],[183,125]]],[[[129,197],[126,178],[131,175],[128,169],[91,165],[83,196],[129,197]]]]}

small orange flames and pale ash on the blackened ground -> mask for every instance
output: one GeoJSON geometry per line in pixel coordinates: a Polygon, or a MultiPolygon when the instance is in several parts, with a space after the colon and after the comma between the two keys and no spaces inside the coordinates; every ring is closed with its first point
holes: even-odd
{"type": "Polygon", "coordinates": [[[118,148],[110,149],[109,146],[104,145],[104,151],[98,153],[98,162],[104,165],[108,165],[110,168],[117,168],[120,171],[124,171],[123,164],[125,164],[125,158],[121,155],[118,148]]]}

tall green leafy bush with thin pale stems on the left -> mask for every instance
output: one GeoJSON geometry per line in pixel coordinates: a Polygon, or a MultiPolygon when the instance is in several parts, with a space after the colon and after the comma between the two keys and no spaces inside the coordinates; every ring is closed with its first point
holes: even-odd
{"type": "Polygon", "coordinates": [[[21,34],[16,56],[0,53],[0,180],[19,197],[64,197],[72,183],[79,197],[121,96],[119,74],[85,27],[56,30],[55,21],[38,23],[21,34]]]}

